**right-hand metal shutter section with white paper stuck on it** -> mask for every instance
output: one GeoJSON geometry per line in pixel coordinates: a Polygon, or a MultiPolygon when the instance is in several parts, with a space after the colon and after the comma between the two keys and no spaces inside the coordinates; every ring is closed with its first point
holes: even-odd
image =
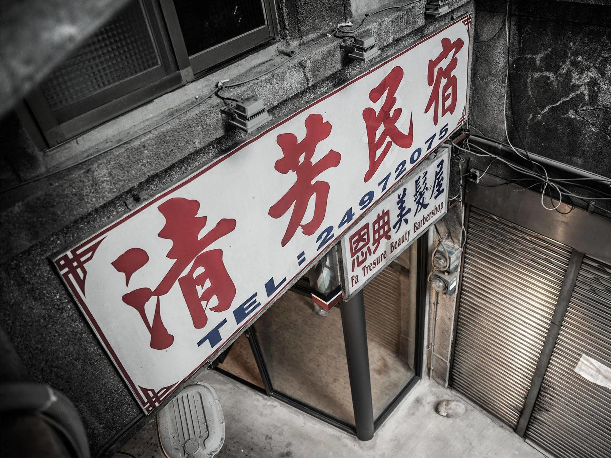
{"type": "Polygon", "coordinates": [[[611,266],[584,258],[525,437],[558,457],[611,457],[611,390],[575,372],[611,367],[611,266]]]}

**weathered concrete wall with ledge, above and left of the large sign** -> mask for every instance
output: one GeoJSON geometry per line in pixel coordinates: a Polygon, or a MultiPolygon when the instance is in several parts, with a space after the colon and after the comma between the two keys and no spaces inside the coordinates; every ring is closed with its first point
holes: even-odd
{"type": "MultiPolygon", "coordinates": [[[[339,40],[330,38],[231,94],[243,97],[257,93],[268,102],[274,120],[280,120],[452,21],[451,14],[425,16],[424,3],[368,19],[362,32],[374,34],[382,46],[381,55],[372,62],[348,61],[339,49],[339,40]]],[[[474,9],[472,1],[455,0],[453,5],[457,16],[474,9]]],[[[319,36],[324,32],[319,30],[319,36]]],[[[158,118],[143,118],[143,125],[137,126],[117,120],[112,124],[117,131],[108,139],[101,138],[91,150],[77,152],[82,158],[102,151],[112,137],[129,137],[137,129],[189,106],[196,95],[209,93],[219,79],[227,75],[235,81],[247,79],[282,59],[286,57],[257,60],[254,55],[195,81],[150,104],[166,104],[158,118]],[[246,68],[251,73],[244,75],[246,68]]],[[[155,195],[243,142],[246,134],[227,128],[218,111],[221,105],[214,98],[205,100],[150,133],[13,193],[9,202],[3,195],[2,325],[32,379],[49,383],[75,403],[94,453],[142,414],[48,257],[122,214],[131,195],[155,195]]],[[[142,107],[142,111],[126,116],[146,110],[142,107]]]]}

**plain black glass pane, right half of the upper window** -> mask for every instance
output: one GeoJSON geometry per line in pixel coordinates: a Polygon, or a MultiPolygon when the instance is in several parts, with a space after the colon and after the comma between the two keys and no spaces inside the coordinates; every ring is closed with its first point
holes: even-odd
{"type": "Polygon", "coordinates": [[[260,0],[174,0],[189,56],[265,25],[260,0]]]}

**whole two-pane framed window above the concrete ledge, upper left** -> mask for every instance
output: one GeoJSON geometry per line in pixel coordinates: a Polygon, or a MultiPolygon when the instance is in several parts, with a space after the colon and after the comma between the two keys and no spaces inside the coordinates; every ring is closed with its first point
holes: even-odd
{"type": "Polygon", "coordinates": [[[275,35],[271,0],[133,0],[26,101],[54,147],[275,35]]]}

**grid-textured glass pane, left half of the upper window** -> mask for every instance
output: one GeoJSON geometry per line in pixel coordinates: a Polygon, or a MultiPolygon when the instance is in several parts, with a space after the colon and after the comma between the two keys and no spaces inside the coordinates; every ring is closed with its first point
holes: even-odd
{"type": "Polygon", "coordinates": [[[159,65],[139,1],[94,34],[40,85],[57,111],[159,65]]]}

